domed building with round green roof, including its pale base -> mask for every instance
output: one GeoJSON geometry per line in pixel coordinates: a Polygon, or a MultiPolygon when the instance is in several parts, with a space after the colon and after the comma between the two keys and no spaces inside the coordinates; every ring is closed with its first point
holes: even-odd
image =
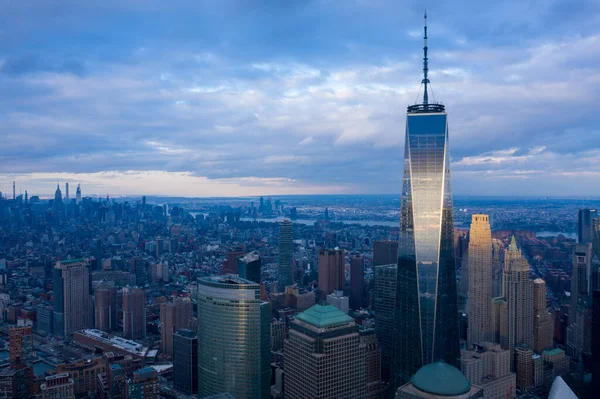
{"type": "Polygon", "coordinates": [[[423,366],[396,392],[396,399],[475,399],[483,398],[483,389],[471,385],[454,366],[435,362],[423,366]]]}

